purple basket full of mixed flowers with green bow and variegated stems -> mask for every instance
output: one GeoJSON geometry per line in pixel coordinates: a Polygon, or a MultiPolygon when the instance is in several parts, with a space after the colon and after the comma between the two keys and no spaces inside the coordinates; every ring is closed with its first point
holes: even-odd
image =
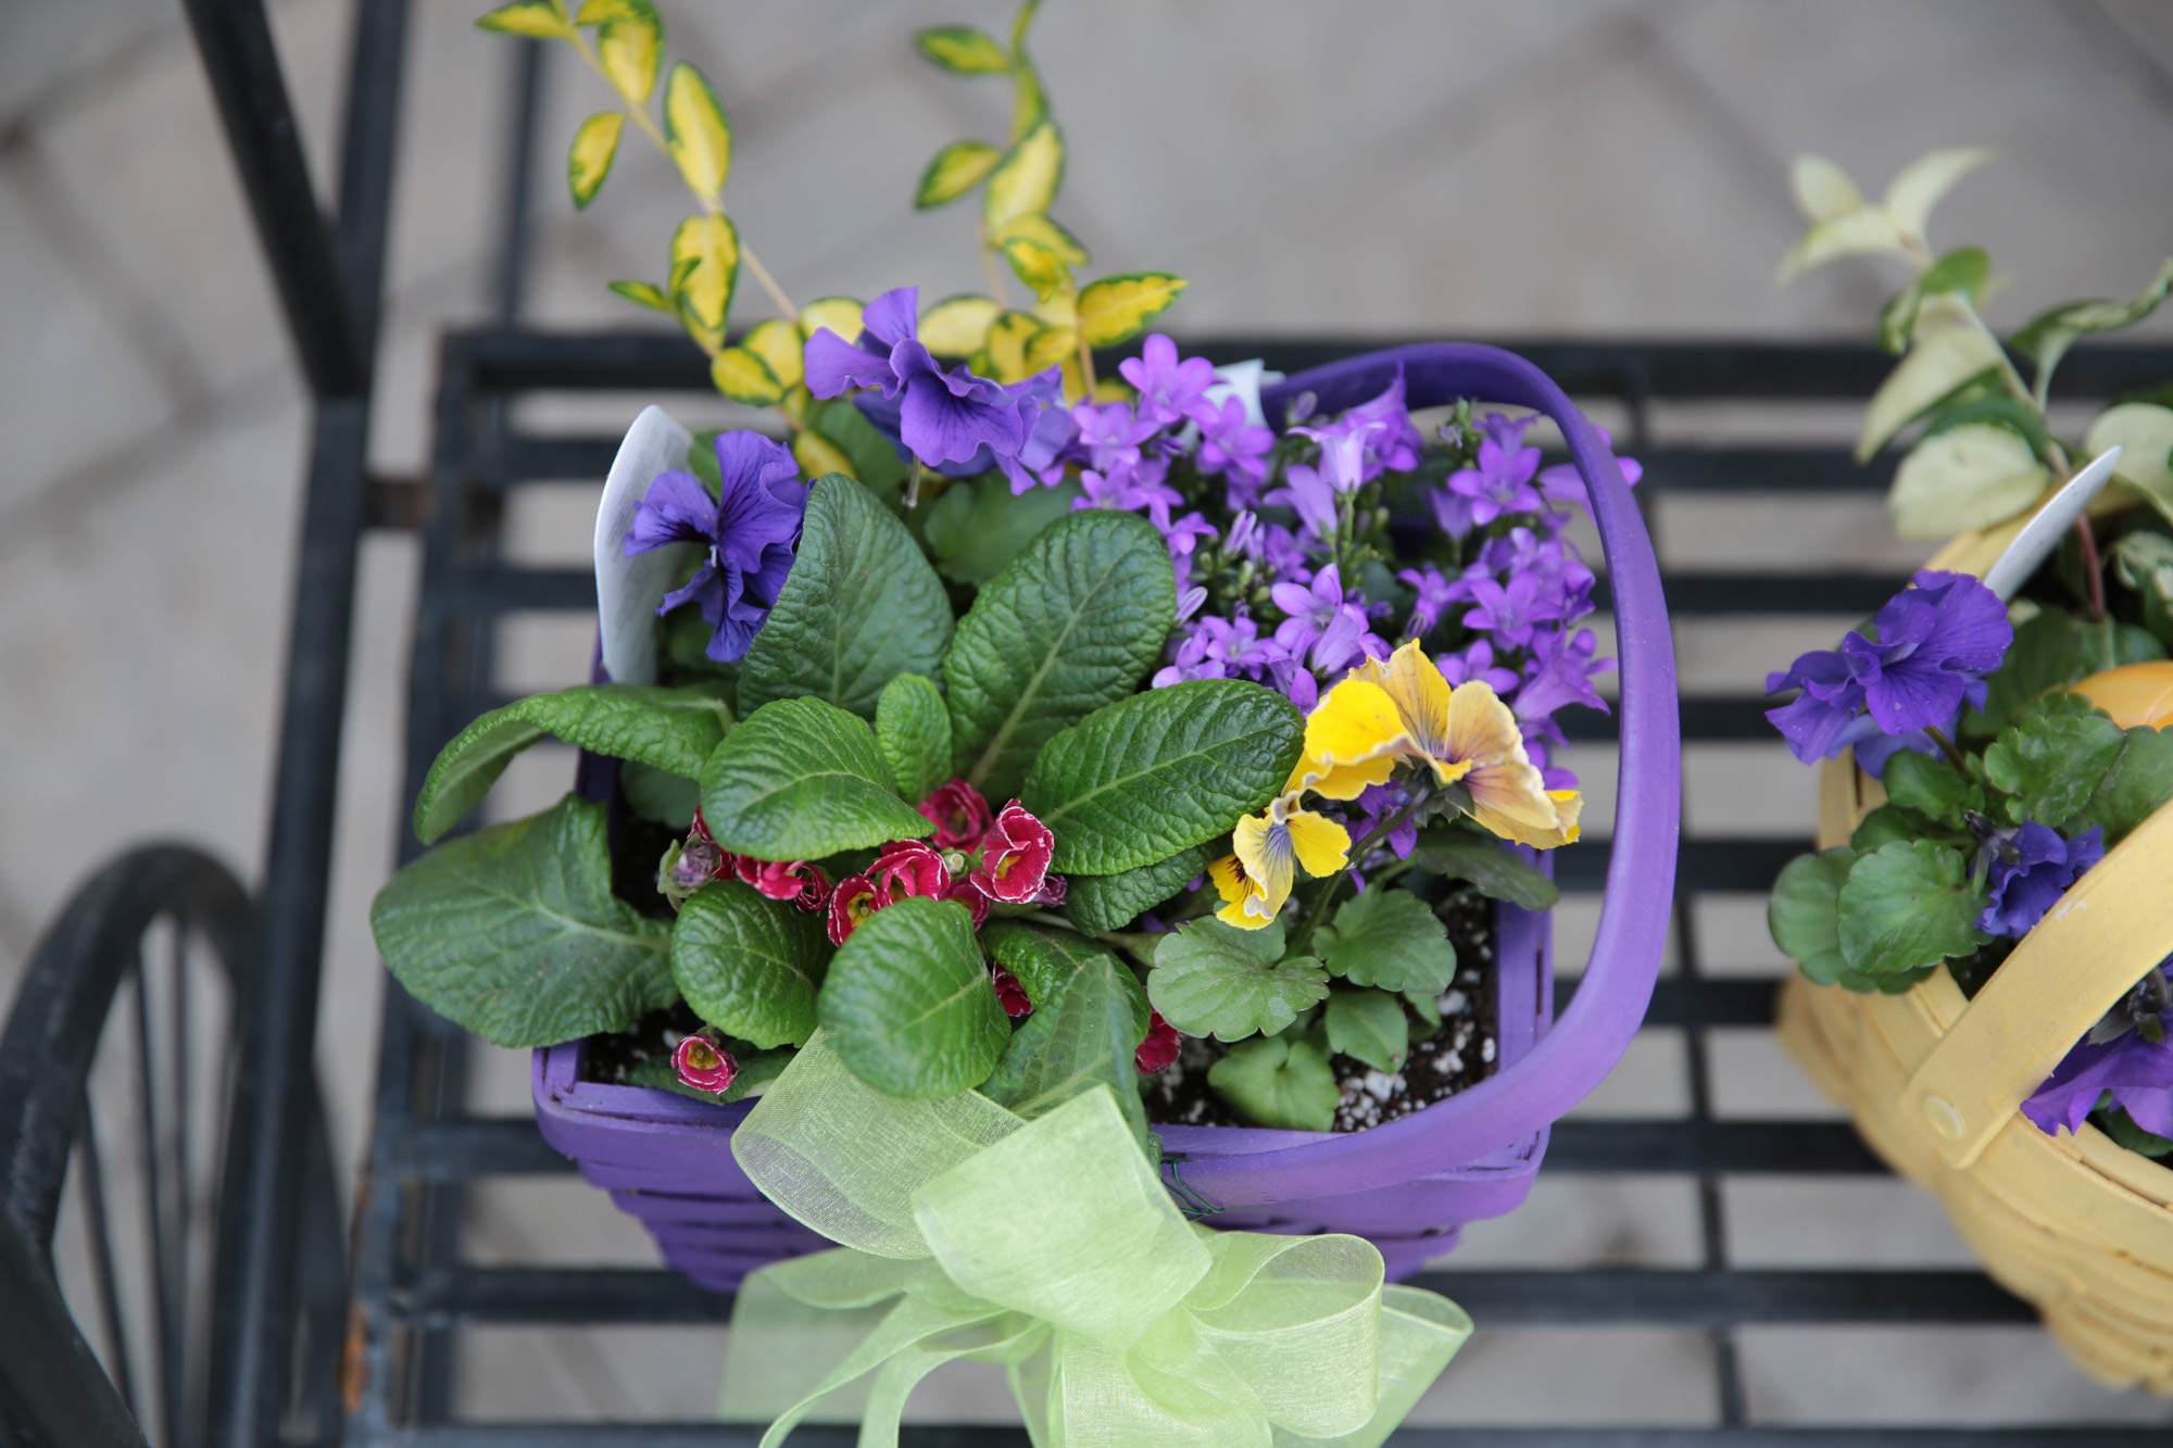
{"type": "MultiPolygon", "coordinates": [[[[728,1398],[782,1413],[774,1433],[884,1361],[869,1411],[895,1420],[928,1339],[969,1328],[1037,1435],[1380,1441],[1469,1331],[1384,1278],[1521,1198],[1545,1120],[1634,1028],[1654,922],[1588,1007],[1604,1044],[1549,1076],[1547,1115],[1467,1133],[1475,1165],[1223,1189],[1215,1159],[1391,1131],[1538,1054],[1545,852],[1580,826],[1556,713],[1606,709],[1615,667],[1565,524],[1588,507],[1643,544],[1617,476],[1636,467],[1484,348],[1284,380],[1145,335],[1097,376],[1184,280],[1078,278],[1032,13],[1008,41],[917,37],[1017,96],[1006,143],[945,148],[917,196],[978,191],[989,296],[806,307],[721,209],[730,128],[700,72],[671,67],[650,117],[650,4],[485,17],[571,43],[617,93],[576,135],[576,204],[628,120],[671,159],[700,209],[663,283],[613,287],[778,435],[637,420],[598,513],[598,678],[443,748],[415,828],[450,839],[372,920],[426,1004],[545,1048],[545,1131],[554,1102],[619,1091],[648,1141],[700,1157],[702,1187],[624,1141],[591,1176],[698,1281],[771,1263],[741,1287],[756,1331],[728,1398]],[[780,315],[732,333],[741,267],[780,315]],[[1538,409],[1575,465],[1541,465],[1538,409]],[[543,737],[585,750],[576,791],[456,835],[543,737]],[[711,1183],[721,1224],[693,1220],[711,1183]],[[1269,1202],[1295,1215],[1228,1211],[1269,1202]],[[806,1228],[845,1250],[778,1261],[821,1246],[806,1228]],[[811,1305],[900,1294],[889,1352],[826,1376],[834,1355],[780,1346],[811,1305]]],[[[1643,637],[1658,589],[1649,550],[1625,557],[1643,637]]],[[[1669,687],[1665,641],[1643,648],[1669,687]]],[[[1671,867],[1662,783],[1649,874],[1671,867]]]]}

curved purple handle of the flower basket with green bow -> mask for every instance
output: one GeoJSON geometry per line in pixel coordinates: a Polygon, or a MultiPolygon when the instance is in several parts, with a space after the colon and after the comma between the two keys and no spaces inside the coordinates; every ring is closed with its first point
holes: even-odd
{"type": "Polygon", "coordinates": [[[1615,850],[1593,959],[1569,1009],[1532,1050],[1480,1085],[1371,1131],[1267,1152],[1184,1163],[1184,1183],[1221,1207],[1252,1207],[1367,1191],[1475,1161],[1530,1137],[1584,1100],[1645,1020],[1675,898],[1682,739],[1675,648],[1660,596],[1660,565],[1615,454],[1569,396],[1525,359],[1473,344],[1419,344],[1302,372],[1263,391],[1269,417],[1315,394],[1336,413],[1404,372],[1410,407],[1480,398],[1552,417],[1591,494],[1615,596],[1621,657],[1621,763],[1615,850]]]}

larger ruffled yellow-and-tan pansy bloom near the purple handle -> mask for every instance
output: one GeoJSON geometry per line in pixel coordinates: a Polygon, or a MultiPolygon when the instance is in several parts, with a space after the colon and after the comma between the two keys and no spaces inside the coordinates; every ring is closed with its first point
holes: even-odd
{"type": "Polygon", "coordinates": [[[1436,783],[1462,785],[1471,815],[1495,835],[1541,850],[1578,837],[1582,798],[1545,787],[1508,704],[1478,678],[1452,689],[1417,639],[1386,663],[1367,659],[1321,698],[1297,774],[1330,800],[1354,800],[1399,759],[1423,759],[1436,783]]]}

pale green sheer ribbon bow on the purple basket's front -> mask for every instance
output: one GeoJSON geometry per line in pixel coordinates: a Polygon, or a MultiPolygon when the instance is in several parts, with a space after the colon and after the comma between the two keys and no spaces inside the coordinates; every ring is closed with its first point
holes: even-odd
{"type": "Polygon", "coordinates": [[[739,1294],[721,1411],[778,1413],[763,1448],[865,1374],[861,1448],[893,1448],[915,1383],[960,1357],[1008,1368],[1037,1448],[1378,1448],[1471,1335],[1362,1237],[1189,1224],[1108,1085],[1032,1122],[900,1100],[817,1033],[732,1154],[845,1244],[739,1294]]]}

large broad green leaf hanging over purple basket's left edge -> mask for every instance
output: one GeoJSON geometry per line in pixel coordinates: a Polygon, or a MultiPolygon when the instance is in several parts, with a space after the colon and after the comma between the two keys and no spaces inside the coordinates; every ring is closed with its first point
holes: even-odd
{"type": "Polygon", "coordinates": [[[400,985],[498,1046],[628,1031],[676,994],[669,926],[611,894],[604,807],[571,794],[406,865],[369,928],[400,985]]]}

